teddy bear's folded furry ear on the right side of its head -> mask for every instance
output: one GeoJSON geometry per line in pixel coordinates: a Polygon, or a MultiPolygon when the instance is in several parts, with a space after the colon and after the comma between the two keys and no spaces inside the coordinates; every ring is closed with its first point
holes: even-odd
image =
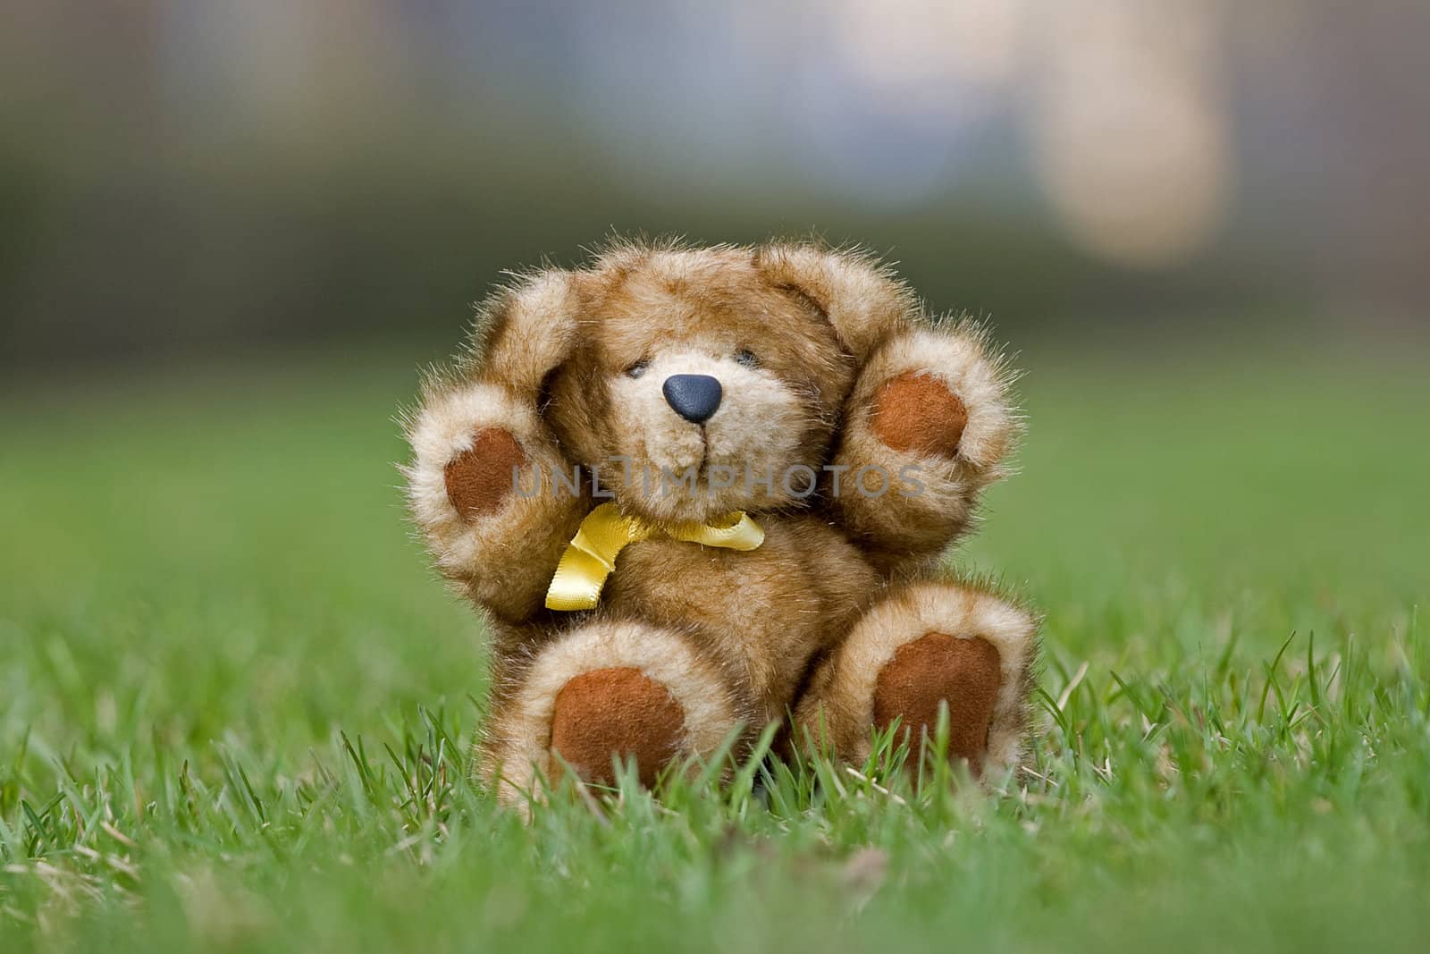
{"type": "Polygon", "coordinates": [[[755,250],[755,267],[775,287],[822,312],[861,363],[879,342],[921,315],[918,296],[891,269],[862,252],[811,243],[766,245],[755,250]]]}

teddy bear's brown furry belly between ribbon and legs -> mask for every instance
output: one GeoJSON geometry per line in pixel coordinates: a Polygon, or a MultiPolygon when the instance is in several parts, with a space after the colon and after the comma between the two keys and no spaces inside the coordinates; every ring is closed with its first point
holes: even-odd
{"type": "Polygon", "coordinates": [[[878,574],[814,518],[759,519],[765,542],[732,551],[669,539],[626,546],[602,602],[622,616],[694,631],[779,718],[809,658],[844,638],[879,591],[878,574]]]}

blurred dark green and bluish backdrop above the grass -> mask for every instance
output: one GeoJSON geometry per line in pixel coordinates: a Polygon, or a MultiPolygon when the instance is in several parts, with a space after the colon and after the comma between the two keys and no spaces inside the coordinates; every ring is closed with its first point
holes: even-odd
{"type": "Polygon", "coordinates": [[[1020,346],[1419,338],[1427,36],[1410,0],[9,0],[0,366],[425,359],[612,230],[858,240],[1020,346]]]}

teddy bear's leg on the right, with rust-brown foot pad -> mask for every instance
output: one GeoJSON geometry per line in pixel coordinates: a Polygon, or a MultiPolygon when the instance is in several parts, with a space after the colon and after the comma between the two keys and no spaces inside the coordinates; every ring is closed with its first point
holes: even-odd
{"type": "Polygon", "coordinates": [[[1012,767],[1028,725],[1037,619],[960,582],[898,586],[819,665],[795,707],[795,735],[847,761],[898,721],[918,752],[948,709],[950,755],[977,774],[1012,767]]]}

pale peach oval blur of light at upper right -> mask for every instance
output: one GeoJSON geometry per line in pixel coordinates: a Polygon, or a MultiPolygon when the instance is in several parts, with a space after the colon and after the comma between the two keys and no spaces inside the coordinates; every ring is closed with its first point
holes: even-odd
{"type": "Polygon", "coordinates": [[[1134,266],[1201,250],[1233,185],[1211,7],[1070,0],[1040,37],[1034,162],[1071,237],[1134,266]]]}

